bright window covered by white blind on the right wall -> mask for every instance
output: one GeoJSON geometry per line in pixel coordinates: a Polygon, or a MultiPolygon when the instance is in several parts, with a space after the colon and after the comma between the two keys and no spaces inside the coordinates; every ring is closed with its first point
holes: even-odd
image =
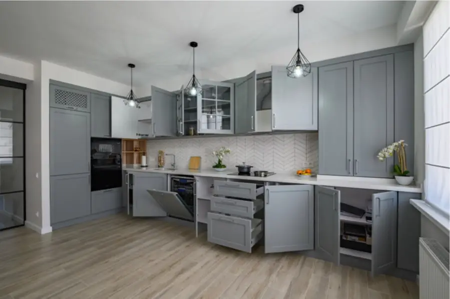
{"type": "Polygon", "coordinates": [[[423,25],[425,200],[450,212],[450,2],[439,1],[423,25]]]}

